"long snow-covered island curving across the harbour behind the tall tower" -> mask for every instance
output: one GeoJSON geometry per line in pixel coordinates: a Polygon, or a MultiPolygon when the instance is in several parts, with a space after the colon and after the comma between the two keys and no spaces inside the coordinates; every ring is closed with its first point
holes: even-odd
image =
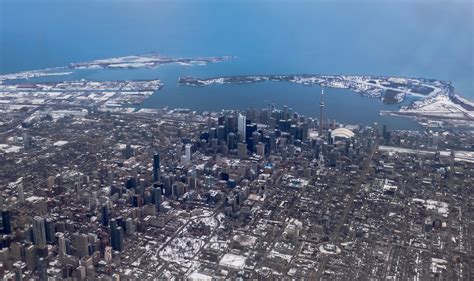
{"type": "Polygon", "coordinates": [[[289,74],[180,77],[178,84],[203,87],[265,81],[349,89],[387,104],[400,104],[411,97],[413,101],[401,105],[398,111],[381,111],[380,114],[410,117],[425,127],[474,128],[474,103],[455,94],[451,82],[443,80],[375,75],[289,74]]]}

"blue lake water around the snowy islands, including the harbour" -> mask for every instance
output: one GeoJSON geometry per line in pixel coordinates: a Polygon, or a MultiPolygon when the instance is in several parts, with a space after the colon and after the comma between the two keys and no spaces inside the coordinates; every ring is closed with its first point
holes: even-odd
{"type": "MultiPolygon", "coordinates": [[[[184,75],[375,74],[450,80],[474,99],[471,1],[33,1],[0,0],[0,72],[158,52],[235,55],[207,66],[87,70],[71,78],[162,79],[146,107],[245,109],[272,102],[318,116],[318,87],[290,83],[178,87],[184,75]]],[[[61,77],[61,79],[64,77],[61,77]]],[[[412,121],[380,117],[381,104],[326,90],[328,118],[346,123],[412,121]]]]}

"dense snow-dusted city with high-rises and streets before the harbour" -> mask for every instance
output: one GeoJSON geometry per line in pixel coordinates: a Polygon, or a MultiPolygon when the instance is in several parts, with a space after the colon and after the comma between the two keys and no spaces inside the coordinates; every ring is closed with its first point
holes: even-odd
{"type": "Polygon", "coordinates": [[[3,124],[7,280],[472,276],[470,132],[85,112],[3,124]]]}

